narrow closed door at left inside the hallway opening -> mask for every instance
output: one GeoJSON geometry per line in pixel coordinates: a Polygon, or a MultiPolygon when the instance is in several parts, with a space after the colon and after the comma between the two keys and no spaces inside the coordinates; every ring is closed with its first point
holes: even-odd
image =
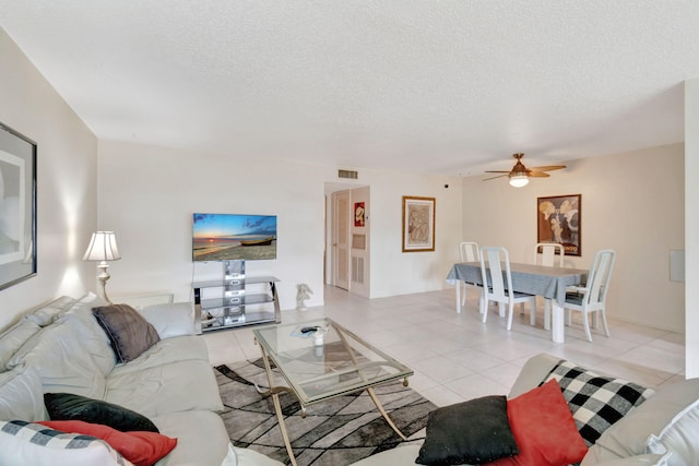
{"type": "Polygon", "coordinates": [[[350,289],[350,192],[332,194],[333,284],[350,289]]]}

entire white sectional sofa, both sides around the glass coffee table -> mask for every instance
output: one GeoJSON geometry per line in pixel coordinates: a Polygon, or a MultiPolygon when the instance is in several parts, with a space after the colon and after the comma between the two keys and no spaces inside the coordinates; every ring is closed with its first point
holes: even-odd
{"type": "MultiPolygon", "coordinates": [[[[157,466],[281,465],[229,444],[217,415],[223,404],[205,342],[194,335],[191,304],[140,310],[158,340],[128,362],[118,362],[123,355],[115,353],[114,336],[108,336],[93,313],[93,308],[105,304],[94,295],[63,297],[0,333],[0,466],[130,464],[102,441],[78,446],[70,435],[68,440],[57,435],[66,440],[62,442],[50,438],[37,441],[36,429],[44,427],[37,428],[35,422],[49,419],[47,393],[106,402],[152,421],[159,434],[177,439],[175,449],[157,466]]],[[[508,396],[508,407],[510,401],[540,386],[556,367],[567,363],[550,355],[532,357],[508,396]]],[[[582,466],[699,464],[699,380],[643,395],[647,401],[630,408],[596,439],[582,466]]],[[[540,410],[547,409],[542,406],[540,410]]],[[[478,429],[473,422],[461,425],[459,435],[478,429]]],[[[399,446],[354,466],[413,465],[422,446],[399,446]]]]}

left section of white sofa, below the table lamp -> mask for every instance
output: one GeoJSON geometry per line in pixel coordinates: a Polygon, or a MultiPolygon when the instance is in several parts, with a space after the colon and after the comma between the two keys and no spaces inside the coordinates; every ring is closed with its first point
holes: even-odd
{"type": "MultiPolygon", "coordinates": [[[[126,363],[117,363],[93,315],[92,309],[104,304],[92,294],[62,297],[0,334],[0,421],[48,420],[44,393],[71,393],[137,411],[161,434],[176,438],[177,446],[158,466],[235,465],[241,464],[240,456],[254,454],[229,445],[217,415],[223,409],[218,386],[205,342],[194,335],[191,304],[141,310],[161,339],[126,363]]],[[[0,465],[44,456],[46,464],[60,464],[58,452],[37,452],[16,435],[3,435],[0,427],[0,465]]]]}

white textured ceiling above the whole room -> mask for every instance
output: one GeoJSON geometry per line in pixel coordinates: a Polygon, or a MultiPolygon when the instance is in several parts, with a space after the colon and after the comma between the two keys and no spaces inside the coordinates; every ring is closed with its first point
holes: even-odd
{"type": "Polygon", "coordinates": [[[696,0],[0,0],[0,27],[100,139],[342,168],[680,142],[699,76],[696,0]]]}

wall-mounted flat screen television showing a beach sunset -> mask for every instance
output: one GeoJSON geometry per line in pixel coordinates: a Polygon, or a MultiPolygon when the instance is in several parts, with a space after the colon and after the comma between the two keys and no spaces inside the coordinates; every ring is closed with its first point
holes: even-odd
{"type": "Polygon", "coordinates": [[[276,215],[193,215],[192,261],[265,259],[276,259],[276,215]]]}

